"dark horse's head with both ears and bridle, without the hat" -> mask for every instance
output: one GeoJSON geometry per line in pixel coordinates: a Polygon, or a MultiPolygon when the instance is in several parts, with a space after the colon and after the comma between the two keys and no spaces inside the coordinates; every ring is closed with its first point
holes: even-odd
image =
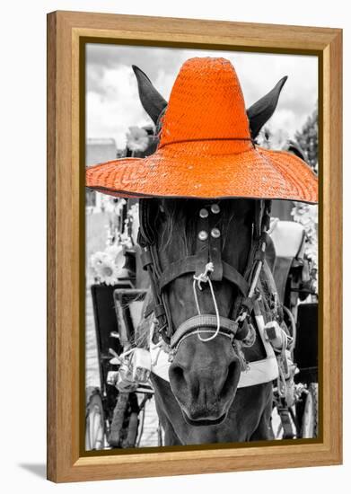
{"type": "MultiPolygon", "coordinates": [[[[167,101],[142,70],[133,69],[140,101],[158,132],[167,101]]],[[[285,80],[247,110],[252,139],[273,114],[285,80]]],[[[171,391],[190,425],[222,422],[234,400],[242,361],[231,322],[247,295],[244,277],[258,203],[243,198],[141,199],[147,210],[141,216],[142,236],[151,235],[152,257],[157,258],[159,276],[152,283],[162,292],[167,327],[160,332],[171,348],[171,391]]]]}

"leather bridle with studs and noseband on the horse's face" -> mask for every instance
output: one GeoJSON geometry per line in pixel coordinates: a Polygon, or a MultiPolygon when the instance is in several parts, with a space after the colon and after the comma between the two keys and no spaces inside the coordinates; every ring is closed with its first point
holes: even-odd
{"type": "Polygon", "coordinates": [[[244,273],[241,274],[230,264],[222,260],[221,233],[215,227],[220,207],[218,201],[211,204],[210,209],[202,207],[198,211],[198,234],[196,253],[186,258],[171,262],[161,268],[156,243],[156,232],[153,219],[157,215],[156,199],[139,199],[139,235],[138,243],[143,248],[141,261],[143,268],[149,273],[153,294],[153,310],[156,319],[156,332],[171,352],[177,352],[180,343],[193,334],[200,340],[213,340],[218,334],[228,337],[233,347],[238,349],[238,343],[251,346],[255,340],[256,331],[251,323],[251,313],[257,310],[259,298],[259,274],[265,260],[267,231],[270,220],[271,201],[256,200],[255,215],[252,223],[250,253],[244,273]],[[178,328],[173,327],[171,310],[168,300],[167,287],[182,275],[194,273],[193,290],[197,303],[197,315],[182,322],[178,328]],[[230,318],[221,316],[215,301],[213,281],[228,280],[238,287],[240,296],[237,297],[230,318]],[[215,314],[202,314],[197,302],[197,289],[208,283],[215,304],[215,314]],[[204,339],[203,335],[207,335],[204,339]]]}

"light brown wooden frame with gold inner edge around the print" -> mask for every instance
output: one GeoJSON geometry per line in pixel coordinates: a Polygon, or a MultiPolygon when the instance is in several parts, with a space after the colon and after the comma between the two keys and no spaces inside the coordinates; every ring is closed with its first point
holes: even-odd
{"type": "MultiPolygon", "coordinates": [[[[48,14],[48,479],[90,481],[331,465],[342,462],[342,31],[106,13],[48,14]],[[305,443],[83,454],[80,311],[84,40],[304,53],[320,78],[321,433],[305,443]]],[[[83,295],[82,295],[83,294],[83,295]]]]}

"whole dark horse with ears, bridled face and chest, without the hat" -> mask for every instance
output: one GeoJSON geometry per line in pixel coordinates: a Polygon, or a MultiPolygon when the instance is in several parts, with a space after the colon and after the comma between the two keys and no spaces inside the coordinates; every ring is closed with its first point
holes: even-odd
{"type": "MultiPolygon", "coordinates": [[[[133,69],[157,134],[167,101],[133,69]]],[[[285,80],[247,110],[253,140],[276,109],[285,80]]],[[[257,256],[269,247],[269,207],[270,201],[253,198],[139,199],[138,242],[153,292],[149,317],[157,319],[149,343],[170,360],[168,379],[151,374],[165,445],[274,438],[273,379],[241,385],[248,368],[268,357],[262,321],[277,310],[268,262],[257,256]],[[206,264],[208,251],[213,262],[206,264]],[[251,284],[248,297],[244,287],[251,284]],[[250,317],[240,319],[242,311],[250,317]]]]}

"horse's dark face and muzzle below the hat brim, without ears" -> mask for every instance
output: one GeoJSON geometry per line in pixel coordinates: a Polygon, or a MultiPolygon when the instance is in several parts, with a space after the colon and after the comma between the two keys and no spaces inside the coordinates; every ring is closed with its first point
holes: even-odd
{"type": "Polygon", "coordinates": [[[155,247],[162,272],[169,273],[169,278],[166,275],[162,279],[162,285],[167,283],[171,326],[177,338],[171,345],[171,390],[190,424],[218,423],[225,418],[241,375],[241,361],[228,338],[230,333],[222,331],[224,322],[233,318],[241,292],[225,276],[223,266],[230,266],[238,273],[243,273],[247,266],[255,201],[155,199],[155,202],[158,209],[154,216],[155,247]],[[207,255],[207,248],[214,256],[211,286],[201,283],[201,271],[206,266],[206,260],[201,258],[207,255]],[[192,262],[198,262],[197,279],[194,278],[197,267],[191,266],[192,262]],[[191,270],[187,272],[188,269],[191,270]],[[204,318],[212,316],[216,322],[216,313],[221,316],[216,335],[214,331],[206,332],[205,320],[204,326],[197,326],[199,314],[206,314],[204,318]]]}

